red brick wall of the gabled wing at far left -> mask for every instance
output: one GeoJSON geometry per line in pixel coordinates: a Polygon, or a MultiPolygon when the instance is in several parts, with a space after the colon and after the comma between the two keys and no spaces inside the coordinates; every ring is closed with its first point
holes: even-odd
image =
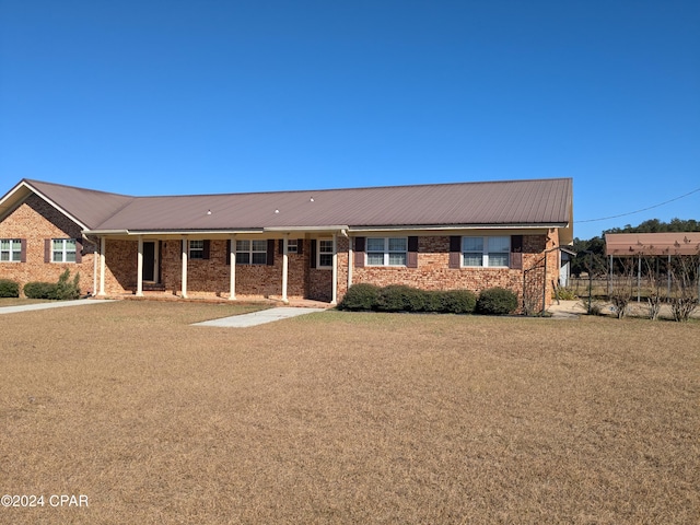
{"type": "Polygon", "coordinates": [[[59,276],[70,270],[71,280],[80,273],[81,293],[93,291],[93,262],[95,246],[82,240],[81,228],[49,206],[31,195],[0,223],[0,238],[25,238],[26,262],[0,261],[0,279],[20,283],[20,293],[30,281],[57,282],[59,276]],[[78,238],[83,243],[81,262],[44,262],[44,242],[47,238],[78,238]]]}

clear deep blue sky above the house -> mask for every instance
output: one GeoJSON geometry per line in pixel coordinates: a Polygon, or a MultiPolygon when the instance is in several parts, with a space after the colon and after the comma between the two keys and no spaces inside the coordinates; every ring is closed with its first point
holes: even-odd
{"type": "Polygon", "coordinates": [[[573,177],[700,220],[700,2],[0,0],[0,195],[573,177]]]}

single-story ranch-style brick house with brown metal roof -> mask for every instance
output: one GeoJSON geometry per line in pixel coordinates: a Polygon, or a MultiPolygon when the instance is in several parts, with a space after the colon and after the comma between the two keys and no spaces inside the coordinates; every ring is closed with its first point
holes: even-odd
{"type": "Polygon", "coordinates": [[[155,197],[22,179],[0,199],[0,279],[69,269],[97,296],[334,304],[374,283],[541,307],[572,241],[570,178],[155,197]]]}

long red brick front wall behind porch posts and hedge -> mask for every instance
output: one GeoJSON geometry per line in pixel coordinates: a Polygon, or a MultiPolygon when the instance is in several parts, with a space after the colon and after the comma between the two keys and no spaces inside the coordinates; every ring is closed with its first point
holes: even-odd
{"type": "MultiPolygon", "coordinates": [[[[534,285],[532,292],[541,307],[544,250],[558,242],[557,231],[523,236],[523,269],[536,267],[529,272],[534,285]]],[[[137,242],[107,242],[107,293],[136,291],[137,242]]],[[[349,238],[337,237],[338,248],[338,301],[347,292],[349,238]]],[[[161,282],[166,291],[179,293],[182,289],[180,241],[170,240],[161,244],[161,282]]],[[[352,268],[352,282],[369,282],[381,287],[409,284],[425,290],[468,289],[476,293],[493,287],[509,288],[522,299],[523,270],[503,268],[448,267],[450,237],[447,235],[420,236],[418,240],[418,268],[365,267],[352,268]]],[[[288,296],[330,301],[332,271],[311,268],[311,241],[303,243],[302,254],[289,254],[288,296]]],[[[188,294],[229,295],[230,267],[226,261],[226,241],[210,242],[209,259],[189,259],[187,272],[188,294]]],[[[551,298],[551,281],[558,277],[558,255],[547,255],[548,280],[546,298],[551,298]]],[[[282,257],[279,241],[275,241],[275,264],[237,265],[236,296],[280,298],[282,282],[282,257]]]]}

